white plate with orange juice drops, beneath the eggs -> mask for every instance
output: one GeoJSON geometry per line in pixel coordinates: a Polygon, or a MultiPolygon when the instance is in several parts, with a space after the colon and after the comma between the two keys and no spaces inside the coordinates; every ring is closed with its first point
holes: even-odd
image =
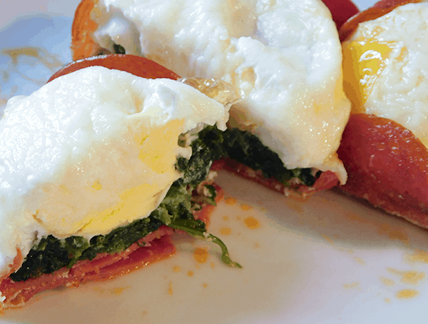
{"type": "MultiPolygon", "coordinates": [[[[0,2],[2,47],[54,54],[49,67],[19,56],[19,71],[0,55],[0,97],[31,93],[70,60],[76,5],[0,2]],[[33,84],[26,76],[40,79],[33,84]]],[[[178,238],[173,258],[106,283],[41,293],[24,308],[6,310],[0,323],[427,322],[427,231],[334,192],[301,202],[225,173],[218,183],[229,199],[213,213],[210,231],[242,270],[221,264],[213,245],[178,238]],[[260,227],[248,228],[248,217],[260,227]],[[210,249],[207,263],[193,259],[195,246],[210,249]]]]}

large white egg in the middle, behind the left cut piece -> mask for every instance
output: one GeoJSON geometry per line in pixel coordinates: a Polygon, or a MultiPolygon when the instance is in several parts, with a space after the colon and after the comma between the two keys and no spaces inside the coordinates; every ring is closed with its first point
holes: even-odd
{"type": "MultiPolygon", "coordinates": [[[[91,19],[103,51],[146,56],[181,76],[232,83],[243,100],[231,108],[229,126],[250,134],[235,133],[244,146],[258,138],[253,153],[269,151],[265,163],[279,159],[285,173],[315,179],[330,171],[345,183],[335,152],[350,103],[342,90],[337,30],[321,1],[103,0],[91,19]]],[[[244,152],[243,163],[257,159],[244,152]]],[[[275,177],[282,182],[280,173],[275,177]]],[[[301,178],[293,181],[311,183],[301,178]]]]}

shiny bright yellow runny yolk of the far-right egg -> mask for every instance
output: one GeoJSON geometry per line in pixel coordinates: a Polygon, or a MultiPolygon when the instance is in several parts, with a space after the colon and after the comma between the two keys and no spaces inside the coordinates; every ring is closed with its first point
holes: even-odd
{"type": "Polygon", "coordinates": [[[352,113],[365,112],[365,103],[377,78],[389,64],[394,42],[367,39],[351,41],[343,48],[343,88],[352,113]]]}

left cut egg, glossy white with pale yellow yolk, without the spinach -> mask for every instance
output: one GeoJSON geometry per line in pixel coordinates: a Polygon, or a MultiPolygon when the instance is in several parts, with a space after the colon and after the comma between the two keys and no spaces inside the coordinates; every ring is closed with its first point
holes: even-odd
{"type": "Polygon", "coordinates": [[[0,121],[0,274],[34,241],[106,234],[144,218],[180,177],[181,133],[225,129],[195,88],[100,66],[11,98],[0,121]]]}

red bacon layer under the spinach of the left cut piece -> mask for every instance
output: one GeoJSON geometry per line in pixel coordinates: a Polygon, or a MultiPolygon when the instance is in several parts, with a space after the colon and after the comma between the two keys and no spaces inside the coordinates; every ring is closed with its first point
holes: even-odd
{"type": "MultiPolygon", "coordinates": [[[[215,201],[218,202],[223,198],[224,191],[215,184],[213,186],[218,193],[215,198],[215,201]]],[[[203,206],[200,211],[194,213],[195,218],[208,224],[210,213],[213,212],[214,208],[211,205],[203,206]]],[[[173,233],[173,228],[161,226],[157,231],[141,238],[138,243],[134,243],[122,253],[101,253],[93,260],[78,261],[71,269],[61,268],[54,273],[44,274],[38,278],[25,281],[15,282],[8,277],[0,283],[1,296],[6,298],[3,304],[9,308],[21,307],[36,293],[44,290],[116,278],[158,260],[169,258],[175,253],[175,245],[172,240],[173,233]]],[[[19,266],[15,266],[14,270],[19,266]]]]}

